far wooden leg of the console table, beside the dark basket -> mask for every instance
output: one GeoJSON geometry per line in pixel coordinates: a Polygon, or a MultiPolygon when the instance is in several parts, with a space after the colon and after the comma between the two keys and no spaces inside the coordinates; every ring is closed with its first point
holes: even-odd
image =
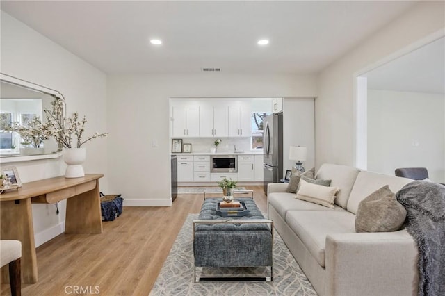
{"type": "Polygon", "coordinates": [[[65,233],[102,233],[99,180],[95,189],[67,199],[65,233]]]}

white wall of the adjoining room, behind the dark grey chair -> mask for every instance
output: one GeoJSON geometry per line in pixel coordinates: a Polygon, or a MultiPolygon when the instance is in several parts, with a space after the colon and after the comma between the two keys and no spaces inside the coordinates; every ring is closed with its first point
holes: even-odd
{"type": "Polygon", "coordinates": [[[445,96],[368,91],[368,170],[394,175],[397,167],[426,167],[445,182],[445,96]]]}

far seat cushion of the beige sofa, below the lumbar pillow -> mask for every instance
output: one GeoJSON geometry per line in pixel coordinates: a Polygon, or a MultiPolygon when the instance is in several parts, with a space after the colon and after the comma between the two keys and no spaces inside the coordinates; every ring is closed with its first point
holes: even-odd
{"type": "Polygon", "coordinates": [[[286,218],[286,213],[293,210],[302,211],[344,211],[343,208],[334,205],[334,208],[327,208],[319,204],[312,202],[305,202],[295,198],[294,193],[287,192],[273,192],[268,196],[268,203],[275,208],[275,210],[283,217],[286,218]]]}

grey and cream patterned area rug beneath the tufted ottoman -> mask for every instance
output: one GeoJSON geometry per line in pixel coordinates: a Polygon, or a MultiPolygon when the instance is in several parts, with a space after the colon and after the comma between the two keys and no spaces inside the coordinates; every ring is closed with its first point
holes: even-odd
{"type": "MultiPolygon", "coordinates": [[[[317,295],[280,235],[274,232],[273,281],[193,281],[192,221],[188,215],[150,295],[317,295]]],[[[249,270],[251,271],[250,268],[249,270]]],[[[222,272],[228,274],[231,268],[222,272]]],[[[237,274],[240,268],[234,268],[237,274]]],[[[249,272],[250,272],[249,271],[249,272]]]]}

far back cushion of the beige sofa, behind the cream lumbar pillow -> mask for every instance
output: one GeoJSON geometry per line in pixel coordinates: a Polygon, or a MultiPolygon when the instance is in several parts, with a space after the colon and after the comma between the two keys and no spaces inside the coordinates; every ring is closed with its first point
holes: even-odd
{"type": "Polygon", "coordinates": [[[316,174],[316,179],[330,179],[330,186],[337,186],[340,191],[337,193],[335,204],[342,208],[348,205],[348,198],[350,191],[353,188],[355,178],[359,173],[356,167],[348,167],[346,165],[333,165],[331,163],[324,163],[316,174]]]}

